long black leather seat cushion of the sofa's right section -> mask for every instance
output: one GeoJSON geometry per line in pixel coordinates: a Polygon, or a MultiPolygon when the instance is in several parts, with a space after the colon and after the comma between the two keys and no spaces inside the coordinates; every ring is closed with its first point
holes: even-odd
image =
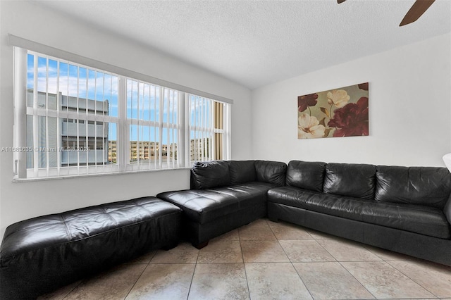
{"type": "Polygon", "coordinates": [[[311,192],[296,187],[268,191],[268,201],[409,232],[451,239],[443,211],[428,206],[382,203],[368,199],[311,192]]]}

